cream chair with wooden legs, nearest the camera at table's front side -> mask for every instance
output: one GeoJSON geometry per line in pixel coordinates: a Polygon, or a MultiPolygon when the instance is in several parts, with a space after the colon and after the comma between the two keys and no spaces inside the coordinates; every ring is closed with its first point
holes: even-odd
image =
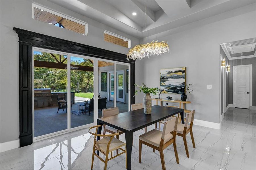
{"type": "Polygon", "coordinates": [[[168,120],[167,122],[164,122],[163,131],[153,129],[147,133],[144,133],[143,135],[140,135],[139,136],[139,163],[141,163],[141,149],[142,149],[142,144],[144,144],[153,148],[153,152],[155,151],[155,149],[159,150],[162,169],[166,169],[165,163],[164,163],[164,149],[169,145],[173,144],[176,162],[179,164],[179,157],[178,157],[178,152],[176,147],[177,125],[178,125],[178,118],[176,117],[176,118],[172,118],[171,120],[168,120]],[[174,132],[174,133],[172,134],[171,132],[174,132]]]}

